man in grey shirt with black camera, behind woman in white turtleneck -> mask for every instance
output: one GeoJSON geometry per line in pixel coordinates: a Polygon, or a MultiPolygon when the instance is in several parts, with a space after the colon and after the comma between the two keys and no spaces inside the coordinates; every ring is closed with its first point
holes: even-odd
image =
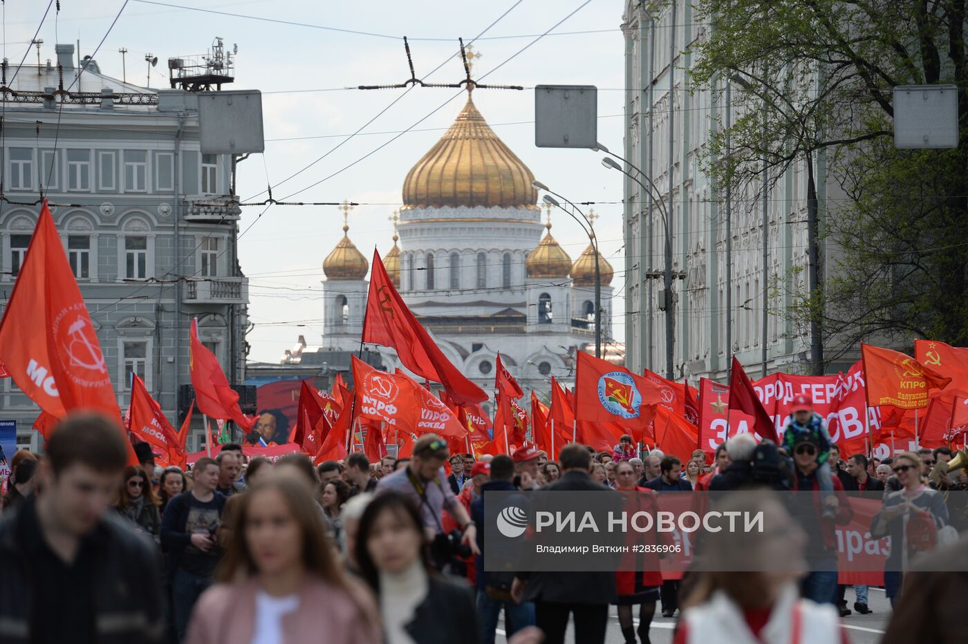
{"type": "Polygon", "coordinates": [[[477,549],[477,530],[467,509],[454,496],[444,476],[443,463],[447,460],[447,442],[436,434],[424,434],[413,444],[413,454],[407,467],[383,477],[377,494],[392,490],[413,500],[420,509],[424,530],[431,540],[434,565],[443,569],[455,556],[480,554],[477,549]],[[460,531],[447,534],[443,530],[443,511],[450,512],[460,531]]]}

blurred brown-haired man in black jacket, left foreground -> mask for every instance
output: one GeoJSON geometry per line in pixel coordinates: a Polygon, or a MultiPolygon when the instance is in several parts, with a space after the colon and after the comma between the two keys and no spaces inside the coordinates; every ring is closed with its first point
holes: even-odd
{"type": "Polygon", "coordinates": [[[0,521],[0,642],[161,642],[154,544],[108,512],[128,459],[120,427],[70,417],[46,454],[40,496],[0,521]]]}

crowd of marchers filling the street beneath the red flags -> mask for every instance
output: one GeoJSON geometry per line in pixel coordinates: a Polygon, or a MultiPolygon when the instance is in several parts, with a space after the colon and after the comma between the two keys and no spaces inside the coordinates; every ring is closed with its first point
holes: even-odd
{"type": "MultiPolygon", "coordinates": [[[[701,450],[684,464],[640,452],[630,436],[611,452],[571,443],[557,460],[528,444],[450,454],[433,434],[407,458],[376,463],[360,452],[318,466],[304,454],[247,459],[228,443],[182,471],[157,467],[146,443],[135,445],[138,465],[128,453],[112,423],[77,415],[43,456],[13,456],[0,504],[0,641],[491,644],[503,614],[512,644],[563,642],[569,622],[574,641],[593,644],[605,640],[611,606],[626,644],[650,642],[659,609],[679,618],[677,643],[847,641],[834,530],[851,519],[849,495],[870,492],[883,498],[871,535],[892,540],[885,641],[917,632],[916,602],[937,610],[923,603],[932,584],[964,589],[963,579],[917,572],[913,556],[924,534],[933,546],[964,527],[965,495],[948,492],[968,490],[968,477],[938,465],[953,452],[842,459],[808,400],[781,445],[740,434],[711,462],[701,450]],[[670,492],[792,490],[817,503],[791,510],[743,497],[791,527],[703,542],[697,557],[735,561],[735,571],[664,579],[657,559],[637,571],[485,570],[484,493],[538,489],[640,505],[670,492]],[[783,570],[743,564],[771,553],[783,570]]],[[[968,559],[965,542],[950,547],[947,556],[968,559]]],[[[871,612],[867,592],[854,587],[854,611],[871,612]]]]}

